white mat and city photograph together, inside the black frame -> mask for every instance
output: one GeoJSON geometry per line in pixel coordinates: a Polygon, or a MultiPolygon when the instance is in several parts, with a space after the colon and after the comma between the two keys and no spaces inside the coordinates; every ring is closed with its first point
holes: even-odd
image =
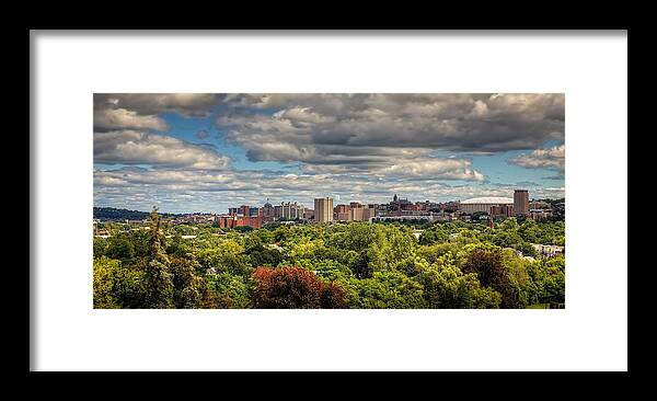
{"type": "Polygon", "coordinates": [[[32,370],[627,369],[626,31],[31,46],[32,370]]]}

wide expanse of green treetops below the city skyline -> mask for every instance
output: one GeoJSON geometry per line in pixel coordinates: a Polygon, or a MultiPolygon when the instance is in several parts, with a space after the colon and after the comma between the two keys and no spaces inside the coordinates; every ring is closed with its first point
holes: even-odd
{"type": "Polygon", "coordinates": [[[93,307],[497,309],[565,307],[563,221],[270,224],[256,230],[101,224],[93,307]],[[186,238],[183,238],[185,236],[186,238]]]}

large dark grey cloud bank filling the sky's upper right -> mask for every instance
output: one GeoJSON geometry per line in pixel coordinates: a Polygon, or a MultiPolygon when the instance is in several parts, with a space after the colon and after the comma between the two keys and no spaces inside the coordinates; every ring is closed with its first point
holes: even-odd
{"type": "Polygon", "coordinates": [[[563,94],[244,94],[224,101],[237,110],[275,111],[217,121],[252,161],[348,163],[345,158],[402,149],[401,158],[430,150],[491,153],[564,137],[563,94]]]}

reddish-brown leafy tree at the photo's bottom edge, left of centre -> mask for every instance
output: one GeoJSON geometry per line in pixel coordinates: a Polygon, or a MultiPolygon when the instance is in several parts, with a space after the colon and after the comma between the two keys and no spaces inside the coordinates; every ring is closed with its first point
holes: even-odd
{"type": "Polygon", "coordinates": [[[251,276],[255,308],[344,308],[345,291],[303,267],[258,267],[251,276]]]}

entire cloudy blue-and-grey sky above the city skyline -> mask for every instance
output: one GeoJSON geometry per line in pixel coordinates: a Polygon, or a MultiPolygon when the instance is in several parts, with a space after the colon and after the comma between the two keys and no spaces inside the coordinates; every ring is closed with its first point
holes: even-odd
{"type": "Polygon", "coordinates": [[[94,206],[564,194],[564,94],[94,95],[94,206]]]}

